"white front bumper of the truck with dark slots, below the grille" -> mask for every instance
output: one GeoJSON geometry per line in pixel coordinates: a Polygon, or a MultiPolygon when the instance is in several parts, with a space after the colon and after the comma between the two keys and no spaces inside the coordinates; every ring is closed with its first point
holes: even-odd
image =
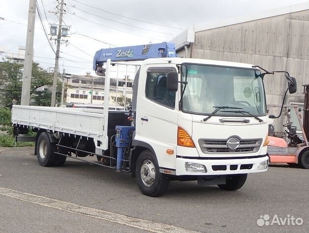
{"type": "Polygon", "coordinates": [[[176,175],[226,175],[226,174],[245,174],[267,171],[266,169],[258,170],[260,163],[268,161],[268,156],[250,159],[187,159],[176,158],[176,175]],[[206,167],[207,172],[188,172],[185,170],[185,163],[202,164],[206,167]]]}

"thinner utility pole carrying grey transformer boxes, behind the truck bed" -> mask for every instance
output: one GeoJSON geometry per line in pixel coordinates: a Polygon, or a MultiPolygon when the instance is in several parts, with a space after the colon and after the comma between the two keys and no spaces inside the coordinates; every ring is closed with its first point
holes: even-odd
{"type": "Polygon", "coordinates": [[[58,66],[59,65],[59,53],[60,53],[61,34],[62,34],[62,16],[63,16],[63,4],[64,4],[63,1],[64,0],[61,0],[61,3],[60,3],[59,29],[58,29],[58,37],[57,37],[57,50],[56,50],[51,107],[55,107],[55,102],[56,102],[57,78],[58,78],[58,70],[59,70],[59,66],[58,66]]]}

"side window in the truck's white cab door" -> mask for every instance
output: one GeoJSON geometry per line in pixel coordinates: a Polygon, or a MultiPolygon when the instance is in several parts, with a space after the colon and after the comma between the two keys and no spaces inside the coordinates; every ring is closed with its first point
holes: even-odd
{"type": "Polygon", "coordinates": [[[175,92],[167,90],[167,73],[174,68],[149,68],[147,70],[146,97],[161,105],[175,108],[175,92]]]}

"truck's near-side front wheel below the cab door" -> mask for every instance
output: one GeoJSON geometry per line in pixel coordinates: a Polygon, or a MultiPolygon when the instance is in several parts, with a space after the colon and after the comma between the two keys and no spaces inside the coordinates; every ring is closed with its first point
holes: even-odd
{"type": "Polygon", "coordinates": [[[149,197],[161,196],[169,185],[168,177],[160,173],[155,155],[150,150],[142,151],[137,158],[135,175],[140,191],[149,197]]]}

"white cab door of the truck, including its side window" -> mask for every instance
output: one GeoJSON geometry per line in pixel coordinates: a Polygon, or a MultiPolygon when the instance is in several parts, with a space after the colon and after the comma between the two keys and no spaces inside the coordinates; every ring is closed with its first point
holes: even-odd
{"type": "Polygon", "coordinates": [[[176,68],[156,65],[145,69],[146,78],[140,73],[138,83],[135,140],[153,148],[160,167],[175,169],[178,96],[166,84],[167,73],[176,68]],[[174,154],[167,154],[167,149],[174,154]]]}

